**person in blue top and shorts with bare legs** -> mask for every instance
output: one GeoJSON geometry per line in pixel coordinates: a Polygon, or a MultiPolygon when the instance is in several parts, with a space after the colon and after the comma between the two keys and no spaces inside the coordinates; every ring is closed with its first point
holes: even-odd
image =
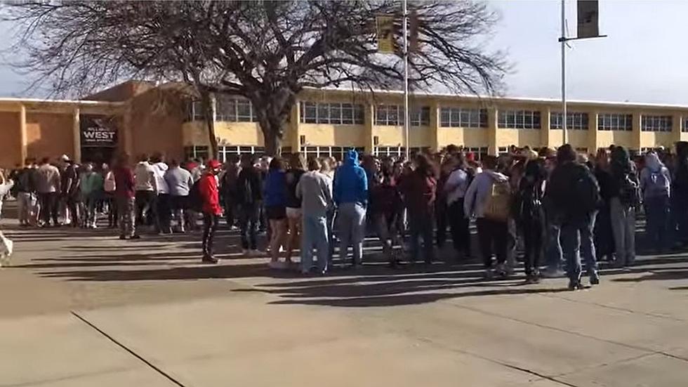
{"type": "Polygon", "coordinates": [[[279,263],[279,249],[286,242],[286,177],[279,157],[270,160],[263,197],[265,216],[270,223],[270,268],[288,268],[291,257],[287,257],[284,265],[279,263]]]}

